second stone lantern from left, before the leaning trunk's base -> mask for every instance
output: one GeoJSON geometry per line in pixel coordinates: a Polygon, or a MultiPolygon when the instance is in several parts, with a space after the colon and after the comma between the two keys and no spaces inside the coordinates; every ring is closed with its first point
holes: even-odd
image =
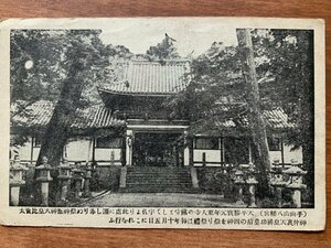
{"type": "Polygon", "coordinates": [[[41,205],[49,206],[50,182],[53,181],[51,176],[52,166],[49,164],[49,159],[43,157],[42,164],[36,166],[35,170],[38,172],[36,182],[41,183],[41,205]]]}

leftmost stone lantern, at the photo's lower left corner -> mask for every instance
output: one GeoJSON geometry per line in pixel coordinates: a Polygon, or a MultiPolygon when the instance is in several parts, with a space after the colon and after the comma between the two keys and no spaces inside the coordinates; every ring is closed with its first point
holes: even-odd
{"type": "Polygon", "coordinates": [[[20,188],[25,184],[23,180],[23,171],[28,169],[20,164],[20,160],[18,158],[12,161],[10,164],[10,204],[12,206],[18,206],[20,204],[20,188]]]}

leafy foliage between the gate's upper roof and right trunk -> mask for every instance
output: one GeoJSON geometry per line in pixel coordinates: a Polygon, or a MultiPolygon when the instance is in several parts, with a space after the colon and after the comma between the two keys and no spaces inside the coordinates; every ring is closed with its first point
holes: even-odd
{"type": "Polygon", "coordinates": [[[228,112],[241,115],[246,111],[243,105],[245,85],[236,47],[214,42],[206,53],[192,60],[185,80],[186,89],[170,97],[167,105],[178,118],[188,118],[195,123],[192,126],[194,131],[215,128],[215,121],[229,118],[228,112]]]}

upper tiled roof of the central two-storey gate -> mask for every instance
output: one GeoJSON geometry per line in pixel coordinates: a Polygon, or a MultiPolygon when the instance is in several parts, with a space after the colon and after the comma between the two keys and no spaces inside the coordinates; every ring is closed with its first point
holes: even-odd
{"type": "Polygon", "coordinates": [[[99,90],[120,94],[175,94],[186,87],[183,76],[188,71],[189,61],[132,60],[124,67],[118,80],[100,86],[99,90]]]}

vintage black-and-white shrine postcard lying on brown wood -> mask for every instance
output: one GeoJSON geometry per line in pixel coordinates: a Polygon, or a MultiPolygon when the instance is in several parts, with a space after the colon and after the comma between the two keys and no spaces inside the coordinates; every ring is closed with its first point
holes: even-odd
{"type": "Polygon", "coordinates": [[[0,22],[0,223],[323,230],[324,21],[0,22]]]}

